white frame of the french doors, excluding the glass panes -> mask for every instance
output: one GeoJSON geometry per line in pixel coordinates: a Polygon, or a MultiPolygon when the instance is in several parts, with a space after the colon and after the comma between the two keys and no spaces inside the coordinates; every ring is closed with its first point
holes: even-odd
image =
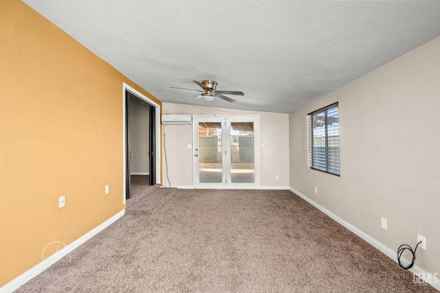
{"type": "MultiPolygon", "coordinates": [[[[260,117],[259,115],[193,115],[192,116],[192,145],[194,145],[194,154],[192,156],[192,166],[194,174],[192,174],[192,185],[194,188],[204,188],[204,189],[260,189],[261,178],[260,178],[260,117]],[[207,119],[207,122],[221,121],[225,123],[222,126],[221,132],[221,147],[222,147],[222,173],[227,170],[225,174],[228,179],[228,183],[203,183],[197,184],[197,178],[199,177],[198,167],[196,167],[196,162],[198,157],[196,156],[196,148],[199,148],[197,144],[199,137],[199,125],[198,119],[207,119]],[[247,122],[254,121],[254,183],[232,183],[230,174],[230,159],[225,159],[225,156],[230,157],[231,146],[230,146],[230,122],[247,122]],[[226,154],[224,153],[226,151],[226,154]],[[197,177],[196,177],[197,176],[197,177]]],[[[223,177],[223,176],[222,176],[223,177]]],[[[223,181],[223,180],[222,180],[223,181]]]]}

